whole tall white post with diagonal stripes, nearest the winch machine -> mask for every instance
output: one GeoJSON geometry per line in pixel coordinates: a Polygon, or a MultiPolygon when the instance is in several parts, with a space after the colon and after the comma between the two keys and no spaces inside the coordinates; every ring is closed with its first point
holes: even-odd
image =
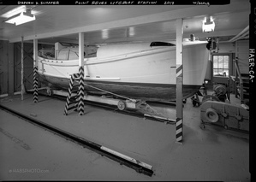
{"type": "Polygon", "coordinates": [[[183,20],[176,20],[176,142],[183,141],[183,20]]]}

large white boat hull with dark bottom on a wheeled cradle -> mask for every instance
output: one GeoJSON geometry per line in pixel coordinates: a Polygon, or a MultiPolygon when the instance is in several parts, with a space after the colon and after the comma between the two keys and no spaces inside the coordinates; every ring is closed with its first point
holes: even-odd
{"type": "MultiPolygon", "coordinates": [[[[145,44],[112,45],[98,49],[97,57],[85,58],[87,85],[105,91],[153,101],[176,98],[176,48],[145,44]],[[128,47],[135,52],[129,53],[128,47]],[[116,55],[116,52],[120,52],[116,55]]],[[[205,44],[183,46],[183,97],[191,97],[205,79],[209,51],[205,44]]],[[[70,75],[78,73],[78,60],[49,60],[39,57],[41,81],[68,89],[70,75]]],[[[86,87],[86,91],[92,91],[86,87]]],[[[95,91],[95,90],[94,90],[95,91]]]]}

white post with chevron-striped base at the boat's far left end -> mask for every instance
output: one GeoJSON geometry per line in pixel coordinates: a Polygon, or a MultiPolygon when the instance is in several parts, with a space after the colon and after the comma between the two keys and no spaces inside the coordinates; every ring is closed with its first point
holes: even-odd
{"type": "Polygon", "coordinates": [[[33,39],[33,103],[39,100],[38,87],[38,39],[33,39]]]}

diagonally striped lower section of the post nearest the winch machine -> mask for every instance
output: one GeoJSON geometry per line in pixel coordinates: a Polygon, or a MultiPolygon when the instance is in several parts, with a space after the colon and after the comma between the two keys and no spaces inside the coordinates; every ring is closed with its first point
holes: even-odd
{"type": "MultiPolygon", "coordinates": [[[[182,91],[182,65],[178,65],[176,68],[176,91],[182,91]]],[[[176,117],[176,142],[182,143],[182,105],[178,99],[182,99],[182,93],[177,93],[177,117],[176,117]]]]}

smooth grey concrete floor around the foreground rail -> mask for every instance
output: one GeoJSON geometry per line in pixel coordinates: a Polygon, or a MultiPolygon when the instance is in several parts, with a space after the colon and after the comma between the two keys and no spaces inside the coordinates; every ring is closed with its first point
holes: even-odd
{"type": "MultiPolygon", "coordinates": [[[[176,126],[85,105],[63,115],[65,102],[33,95],[3,97],[3,106],[153,166],[146,176],[0,110],[1,180],[250,181],[249,140],[202,130],[200,109],[183,109],[183,144],[176,126]],[[21,173],[23,172],[23,173],[21,173]]],[[[231,103],[236,102],[231,96],[231,103]]]]}

